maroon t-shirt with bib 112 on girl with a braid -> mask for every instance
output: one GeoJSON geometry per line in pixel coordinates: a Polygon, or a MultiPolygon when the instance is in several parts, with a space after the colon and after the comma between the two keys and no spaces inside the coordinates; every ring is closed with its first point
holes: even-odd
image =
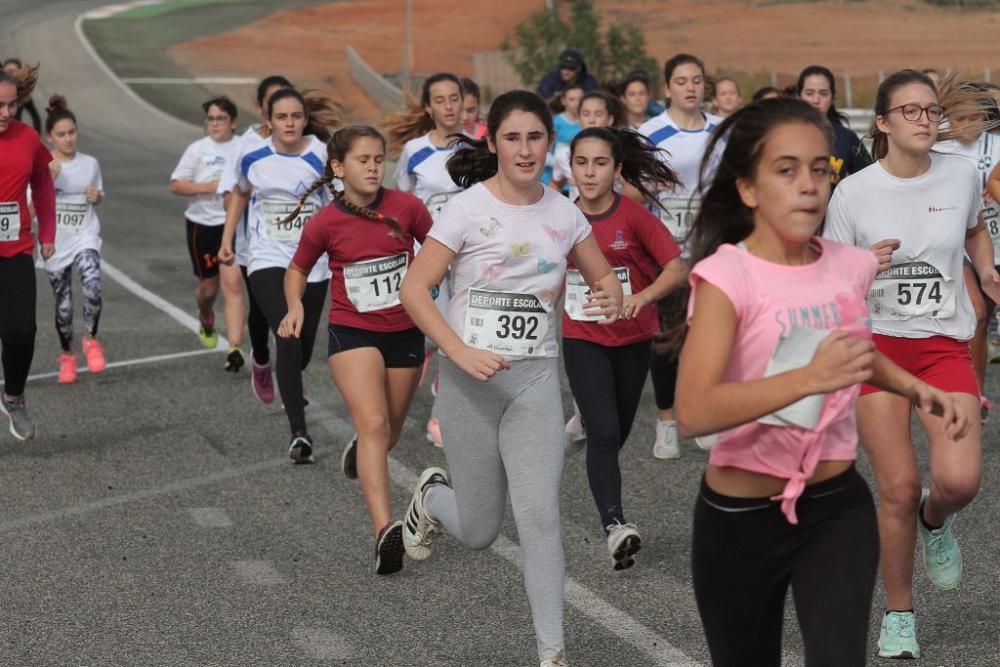
{"type": "Polygon", "coordinates": [[[388,223],[369,220],[334,201],[302,230],[292,262],[306,273],[327,253],[330,259],[330,322],[367,331],[403,331],[413,320],[399,305],[399,287],[413,261],[413,242],[423,243],[431,214],[417,197],[379,190],[369,207],[394,218],[400,239],[388,223]]]}

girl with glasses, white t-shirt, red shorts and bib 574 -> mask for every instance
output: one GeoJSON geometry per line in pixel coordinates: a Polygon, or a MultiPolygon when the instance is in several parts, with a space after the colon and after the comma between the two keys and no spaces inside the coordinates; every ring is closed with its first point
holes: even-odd
{"type": "Polygon", "coordinates": [[[955,514],[979,490],[979,383],[969,353],[976,316],[962,271],[966,253],[983,291],[1000,298],[976,169],[960,157],[931,152],[943,118],[926,74],[903,70],[883,81],[872,125],[878,161],[836,189],[824,232],[871,248],[878,258],[879,273],[868,292],[878,350],[952,394],[970,423],[952,440],[940,417],[917,411],[930,441],[931,484],[921,490],[910,438],[912,402],[871,384],[862,387],[858,432],[878,484],[886,589],[878,646],[887,658],[920,657],[912,596],[917,533],[931,582],[942,590],[957,588],[962,554],[952,533],[955,514]]]}

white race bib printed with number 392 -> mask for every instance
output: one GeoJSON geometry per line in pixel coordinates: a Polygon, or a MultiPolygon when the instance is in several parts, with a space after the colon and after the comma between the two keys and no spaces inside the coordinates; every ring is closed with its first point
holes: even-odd
{"type": "Polygon", "coordinates": [[[466,345],[519,357],[545,355],[548,311],[530,294],[469,290],[466,345]]]}

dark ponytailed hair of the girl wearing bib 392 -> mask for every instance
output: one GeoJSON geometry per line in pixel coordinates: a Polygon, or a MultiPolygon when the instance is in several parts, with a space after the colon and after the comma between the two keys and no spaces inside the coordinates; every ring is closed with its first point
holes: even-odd
{"type": "MultiPolygon", "coordinates": [[[[552,137],[552,114],[545,100],[527,90],[511,90],[493,100],[486,116],[486,134],[494,144],[500,124],[513,111],[534,114],[542,121],[549,137],[552,137]]],[[[463,137],[459,148],[448,158],[447,168],[451,180],[462,188],[470,188],[496,176],[499,165],[497,156],[490,151],[485,137],[478,140],[463,137]]]]}

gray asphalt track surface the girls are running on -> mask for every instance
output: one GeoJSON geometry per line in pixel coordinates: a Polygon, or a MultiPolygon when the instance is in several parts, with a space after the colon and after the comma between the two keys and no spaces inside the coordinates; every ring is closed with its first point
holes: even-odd
{"type": "MultiPolygon", "coordinates": [[[[510,521],[490,550],[445,537],[430,560],[373,574],[359,489],[339,473],[353,429],[322,357],[325,336],[306,377],[317,463],[293,466],[280,406],[257,402],[248,374],[224,373],[221,354],[200,350],[190,316],[164,306],[194,311],[183,203],[167,179],[198,131],[144,108],[81,47],[75,16],[99,4],[0,3],[3,51],[42,62],[36,99],[67,95],[81,149],[101,161],[112,267],[101,337],[118,364],[75,386],[33,380],[38,438],[0,434],[0,665],[537,664],[510,521]]],[[[41,273],[38,293],[33,372],[44,376],[58,343],[41,273]]],[[[995,372],[989,389],[998,396],[995,372]]],[[[429,411],[425,388],[393,453],[397,516],[415,474],[444,461],[423,437],[429,411]]],[[[687,443],[680,460],[654,460],[653,420],[649,391],[623,454],[626,508],[644,538],[627,573],[608,564],[583,459],[567,462],[573,665],[709,664],[689,565],[706,455],[687,443]]],[[[962,588],[937,592],[917,568],[925,657],[915,664],[1000,664],[996,424],[986,430],[983,490],[957,524],[962,588]]],[[[786,664],[802,664],[791,603],[786,636],[786,664]]]]}

